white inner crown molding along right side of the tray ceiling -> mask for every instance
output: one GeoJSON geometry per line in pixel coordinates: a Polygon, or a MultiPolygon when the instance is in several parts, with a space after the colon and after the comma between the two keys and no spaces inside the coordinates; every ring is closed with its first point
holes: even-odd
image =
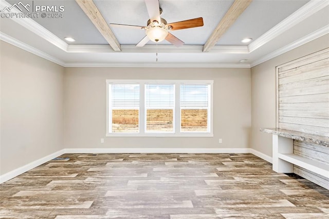
{"type": "Polygon", "coordinates": [[[286,30],[294,27],[310,15],[313,15],[317,11],[329,5],[329,1],[319,1],[319,0],[311,0],[306,3],[303,7],[295,11],[293,14],[288,16],[285,20],[277,24],[275,27],[261,35],[257,40],[253,41],[249,44],[249,52],[252,52],[269,41],[277,38],[280,34],[285,32],[286,30]]]}

